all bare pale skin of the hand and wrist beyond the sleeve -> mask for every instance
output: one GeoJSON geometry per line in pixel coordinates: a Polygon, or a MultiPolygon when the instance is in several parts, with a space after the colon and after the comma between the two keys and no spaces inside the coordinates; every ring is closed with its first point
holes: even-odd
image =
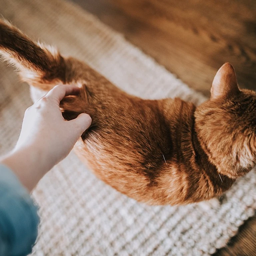
{"type": "Polygon", "coordinates": [[[80,114],[71,121],[62,117],[60,101],[78,91],[78,87],[71,85],[55,86],[29,107],[15,148],[0,159],[0,163],[9,167],[29,192],[69,154],[91,125],[91,117],[87,114],[80,114]]]}

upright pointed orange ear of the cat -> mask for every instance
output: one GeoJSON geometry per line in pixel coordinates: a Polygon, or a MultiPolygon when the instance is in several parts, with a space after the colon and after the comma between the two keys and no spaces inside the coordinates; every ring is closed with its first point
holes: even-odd
{"type": "Polygon", "coordinates": [[[238,94],[235,69],[228,62],[216,73],[211,88],[211,99],[228,98],[238,94]]]}

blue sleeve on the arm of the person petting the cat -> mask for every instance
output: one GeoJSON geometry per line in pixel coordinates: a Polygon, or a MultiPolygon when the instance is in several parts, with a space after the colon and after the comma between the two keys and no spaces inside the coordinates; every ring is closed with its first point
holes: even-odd
{"type": "Polygon", "coordinates": [[[0,255],[25,256],[37,237],[37,206],[16,175],[0,165],[0,255]]]}

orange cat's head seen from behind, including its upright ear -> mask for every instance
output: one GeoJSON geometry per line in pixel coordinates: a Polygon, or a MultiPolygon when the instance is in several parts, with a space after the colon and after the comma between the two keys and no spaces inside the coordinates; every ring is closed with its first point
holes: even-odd
{"type": "Polygon", "coordinates": [[[221,174],[237,178],[256,164],[256,92],[239,89],[225,63],[214,77],[211,97],[195,112],[195,129],[221,174]]]}

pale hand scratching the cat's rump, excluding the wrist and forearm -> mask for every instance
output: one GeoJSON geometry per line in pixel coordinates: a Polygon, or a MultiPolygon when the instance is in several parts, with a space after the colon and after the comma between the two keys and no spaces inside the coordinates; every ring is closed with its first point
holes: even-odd
{"type": "Polygon", "coordinates": [[[37,151],[45,159],[44,169],[48,171],[64,159],[82,133],[91,125],[87,114],[65,121],[60,111],[64,96],[76,94],[79,88],[59,85],[29,107],[24,115],[22,129],[16,150],[37,151]]]}

